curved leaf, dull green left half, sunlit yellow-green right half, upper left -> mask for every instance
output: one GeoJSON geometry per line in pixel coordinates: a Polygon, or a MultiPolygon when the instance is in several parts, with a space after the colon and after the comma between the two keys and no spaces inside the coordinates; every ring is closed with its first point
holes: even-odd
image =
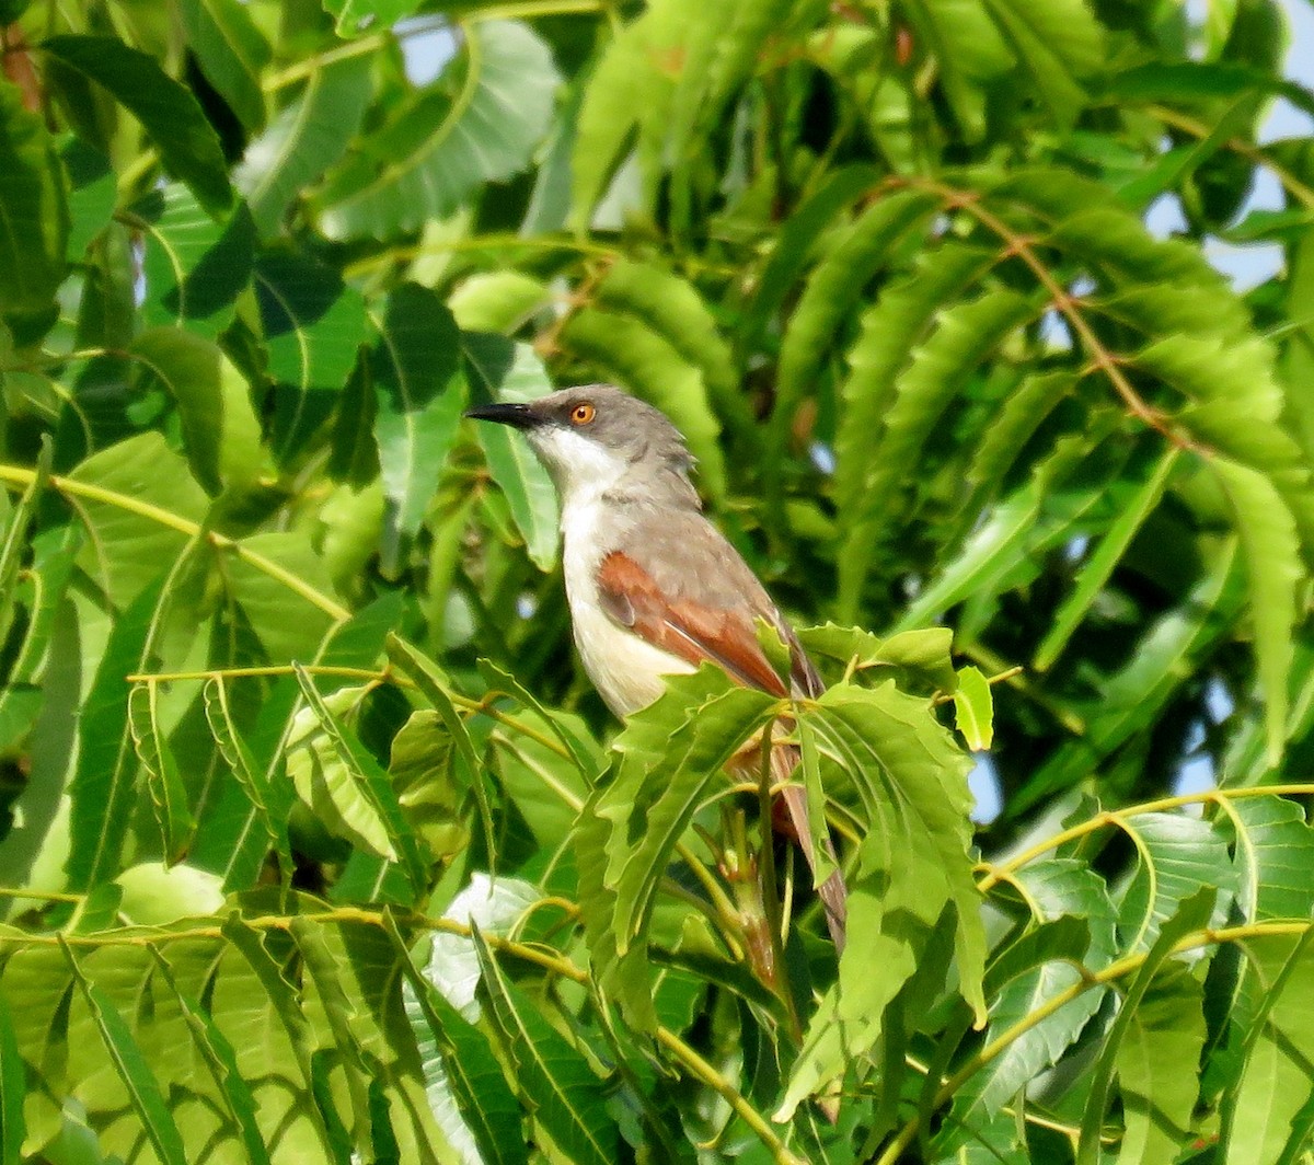
{"type": "Polygon", "coordinates": [[[213,496],[255,487],[264,468],[251,393],[217,344],[179,328],[152,328],[133,341],[177,405],[192,473],[213,496]]]}

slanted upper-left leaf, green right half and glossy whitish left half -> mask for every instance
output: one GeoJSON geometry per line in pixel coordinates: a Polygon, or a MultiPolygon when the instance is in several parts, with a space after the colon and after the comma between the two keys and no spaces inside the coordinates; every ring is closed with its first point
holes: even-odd
{"type": "Polygon", "coordinates": [[[315,68],[305,92],[247,146],[233,181],[261,238],[279,234],[293,201],[347,152],[369,104],[371,64],[353,55],[315,68]]]}

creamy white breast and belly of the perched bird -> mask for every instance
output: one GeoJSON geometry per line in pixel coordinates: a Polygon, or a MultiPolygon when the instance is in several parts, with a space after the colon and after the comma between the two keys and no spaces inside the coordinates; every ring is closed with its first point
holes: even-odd
{"type": "Polygon", "coordinates": [[[628,716],[662,693],[662,676],[694,669],[616,623],[598,602],[600,491],[579,491],[561,507],[562,566],[576,646],[607,707],[628,716]]]}

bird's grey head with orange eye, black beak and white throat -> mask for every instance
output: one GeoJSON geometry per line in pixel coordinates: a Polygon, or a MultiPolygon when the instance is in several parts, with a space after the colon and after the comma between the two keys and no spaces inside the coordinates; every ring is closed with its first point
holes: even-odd
{"type": "Polygon", "coordinates": [[[661,495],[698,504],[694,458],[664,412],[614,385],[561,389],[526,405],[465,414],[520,429],[564,499],[583,494],[661,495]]]}

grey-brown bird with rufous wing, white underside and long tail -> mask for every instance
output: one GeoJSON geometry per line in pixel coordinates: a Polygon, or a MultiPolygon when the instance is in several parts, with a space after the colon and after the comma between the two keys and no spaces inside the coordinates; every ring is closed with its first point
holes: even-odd
{"type": "MultiPolygon", "coordinates": [[[[757,638],[766,620],[788,645],[790,688],[816,696],[821,679],[798,637],[738,552],[702,512],[694,458],[666,416],[611,385],[562,389],[528,405],[465,414],[520,429],[561,498],[562,565],[576,646],[607,707],[624,718],[653,703],[664,678],[711,662],[736,682],[786,696],[757,638]]],[[[788,778],[796,750],[778,745],[771,768],[788,778]]],[[[803,789],[782,793],[808,864],[816,867],[803,789]]],[[[844,943],[845,887],[820,889],[844,943]]]]}

